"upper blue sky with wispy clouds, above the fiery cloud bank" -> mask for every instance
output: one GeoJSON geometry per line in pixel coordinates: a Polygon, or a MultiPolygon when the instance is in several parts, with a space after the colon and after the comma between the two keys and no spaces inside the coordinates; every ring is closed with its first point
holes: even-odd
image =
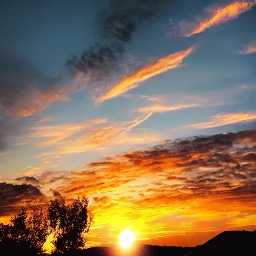
{"type": "Polygon", "coordinates": [[[71,175],[164,140],[255,128],[255,1],[138,2],[1,1],[2,181],[71,175]],[[114,8],[124,24],[107,23],[114,8]],[[130,38],[116,35],[122,26],[130,38]],[[115,60],[94,56],[68,70],[72,56],[114,43],[115,60]]]}

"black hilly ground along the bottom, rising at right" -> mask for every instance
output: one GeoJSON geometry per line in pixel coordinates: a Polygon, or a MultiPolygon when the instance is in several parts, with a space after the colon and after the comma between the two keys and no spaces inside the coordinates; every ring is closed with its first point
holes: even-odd
{"type": "Polygon", "coordinates": [[[124,250],[118,246],[86,249],[79,255],[89,256],[246,256],[256,255],[256,230],[225,231],[196,247],[162,247],[135,245],[124,250]]]}

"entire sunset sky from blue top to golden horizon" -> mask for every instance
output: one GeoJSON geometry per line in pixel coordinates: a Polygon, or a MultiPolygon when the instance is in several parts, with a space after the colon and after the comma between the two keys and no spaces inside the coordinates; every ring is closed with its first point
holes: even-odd
{"type": "Polygon", "coordinates": [[[256,229],[256,2],[2,0],[0,222],[87,195],[87,246],[256,229]]]}

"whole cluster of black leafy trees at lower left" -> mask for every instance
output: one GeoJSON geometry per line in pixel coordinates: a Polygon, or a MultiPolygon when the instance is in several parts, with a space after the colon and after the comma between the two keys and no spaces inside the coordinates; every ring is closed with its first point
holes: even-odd
{"type": "Polygon", "coordinates": [[[75,199],[66,204],[64,197],[51,200],[43,210],[34,207],[27,213],[25,208],[11,217],[10,224],[0,224],[0,251],[10,255],[20,252],[38,255],[48,235],[53,236],[53,253],[63,254],[84,248],[84,234],[93,223],[88,212],[88,198],[75,199]]]}

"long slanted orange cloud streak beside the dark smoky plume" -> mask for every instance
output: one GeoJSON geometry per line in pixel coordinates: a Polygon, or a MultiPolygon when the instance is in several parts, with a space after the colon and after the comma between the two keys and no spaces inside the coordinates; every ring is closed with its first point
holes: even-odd
{"type": "Polygon", "coordinates": [[[105,95],[97,98],[97,101],[101,102],[110,98],[118,97],[123,93],[138,87],[140,83],[155,75],[180,67],[184,58],[194,52],[195,49],[196,46],[193,45],[186,50],[182,50],[167,57],[161,58],[155,64],[146,65],[137,72],[124,77],[105,95]]]}

